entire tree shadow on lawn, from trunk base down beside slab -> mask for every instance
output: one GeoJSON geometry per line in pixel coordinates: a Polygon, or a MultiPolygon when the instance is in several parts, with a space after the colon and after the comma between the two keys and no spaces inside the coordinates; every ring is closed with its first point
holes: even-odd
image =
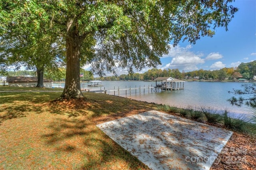
{"type": "MultiPolygon", "coordinates": [[[[74,162],[71,169],[108,169],[113,163],[114,167],[123,164],[124,167],[147,169],[95,125],[152,110],[153,104],[98,93],[84,93],[85,100],[56,101],[60,93],[0,93],[0,122],[46,114],[49,118],[44,121],[49,124],[40,141],[45,145],[41,149],[49,152],[47,160],[51,160],[52,165],[62,166],[57,162],[69,160],[74,162]],[[59,159],[55,160],[56,157],[59,159]]],[[[66,162],[62,168],[70,167],[66,162]]]]}

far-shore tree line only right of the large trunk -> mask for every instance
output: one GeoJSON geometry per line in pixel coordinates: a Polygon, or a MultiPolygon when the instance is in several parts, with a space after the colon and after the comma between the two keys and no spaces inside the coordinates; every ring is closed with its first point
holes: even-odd
{"type": "Polygon", "coordinates": [[[180,72],[178,69],[150,69],[145,73],[122,74],[118,77],[99,77],[101,80],[153,80],[156,77],[173,77],[176,79],[204,79],[204,80],[232,80],[232,79],[254,79],[256,75],[256,60],[248,63],[241,63],[238,67],[222,68],[219,70],[196,70],[180,72]]]}

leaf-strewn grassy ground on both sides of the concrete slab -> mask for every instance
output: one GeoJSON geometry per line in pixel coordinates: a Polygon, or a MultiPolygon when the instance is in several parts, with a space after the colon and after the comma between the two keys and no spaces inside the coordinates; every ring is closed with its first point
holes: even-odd
{"type": "MultiPolygon", "coordinates": [[[[61,90],[0,87],[0,169],[148,169],[96,125],[159,105],[100,93],[55,101],[61,90]]],[[[254,136],[234,132],[212,169],[256,167],[255,155],[254,136]],[[246,162],[228,162],[231,154],[246,162]]]]}

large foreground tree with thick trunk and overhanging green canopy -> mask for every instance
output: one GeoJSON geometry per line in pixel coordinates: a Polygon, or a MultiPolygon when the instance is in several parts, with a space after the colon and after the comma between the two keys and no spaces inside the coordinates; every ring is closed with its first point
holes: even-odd
{"type": "MultiPolygon", "coordinates": [[[[104,75],[116,67],[160,64],[169,43],[195,43],[225,27],[237,11],[233,0],[19,0],[1,1],[0,20],[22,29],[58,32],[66,41],[63,98],[82,98],[80,61],[104,75]],[[17,18],[20,18],[18,20],[17,18]],[[24,19],[25,18],[25,19],[24,19]],[[50,23],[45,28],[42,23],[50,23]],[[33,28],[33,29],[34,29],[33,28]]],[[[4,25],[0,25],[4,32],[4,25]]]]}

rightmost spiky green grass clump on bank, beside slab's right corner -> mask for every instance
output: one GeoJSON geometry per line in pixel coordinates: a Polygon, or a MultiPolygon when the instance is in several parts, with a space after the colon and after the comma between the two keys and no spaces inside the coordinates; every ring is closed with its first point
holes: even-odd
{"type": "Polygon", "coordinates": [[[224,110],[223,120],[226,128],[237,132],[247,132],[246,127],[248,121],[243,115],[236,116],[235,114],[230,114],[227,110],[224,110]]]}

